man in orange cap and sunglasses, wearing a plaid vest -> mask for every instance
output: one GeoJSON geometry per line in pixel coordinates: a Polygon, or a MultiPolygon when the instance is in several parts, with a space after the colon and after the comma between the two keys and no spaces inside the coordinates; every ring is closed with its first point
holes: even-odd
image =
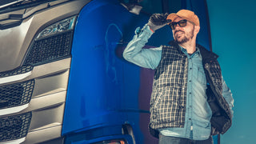
{"type": "Polygon", "coordinates": [[[198,16],[190,10],[153,14],[123,57],[155,70],[150,98],[150,133],[166,143],[213,143],[211,135],[231,126],[234,99],[222,78],[218,55],[196,44],[198,16]],[[168,24],[170,46],[142,49],[155,30],[168,24]]]}

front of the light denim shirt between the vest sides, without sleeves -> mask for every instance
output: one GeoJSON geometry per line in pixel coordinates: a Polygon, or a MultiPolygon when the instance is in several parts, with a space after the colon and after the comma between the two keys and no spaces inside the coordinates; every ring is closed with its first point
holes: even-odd
{"type": "Polygon", "coordinates": [[[206,75],[202,67],[202,57],[198,48],[191,55],[187,54],[186,49],[181,49],[188,58],[185,126],[159,131],[166,136],[205,140],[210,136],[212,113],[206,98],[206,75]]]}

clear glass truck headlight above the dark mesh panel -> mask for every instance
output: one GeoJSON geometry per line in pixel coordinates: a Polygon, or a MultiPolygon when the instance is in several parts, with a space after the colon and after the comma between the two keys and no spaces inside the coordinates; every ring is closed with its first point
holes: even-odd
{"type": "Polygon", "coordinates": [[[75,18],[76,16],[71,18],[66,18],[60,22],[54,23],[53,25],[46,27],[44,30],[42,30],[41,33],[38,34],[37,38],[43,38],[43,37],[64,32],[67,30],[73,30],[75,18]]]}

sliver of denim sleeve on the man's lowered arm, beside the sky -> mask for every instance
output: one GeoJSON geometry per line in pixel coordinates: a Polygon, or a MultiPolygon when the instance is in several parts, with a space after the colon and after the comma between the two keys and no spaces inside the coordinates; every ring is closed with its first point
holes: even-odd
{"type": "Polygon", "coordinates": [[[228,86],[226,86],[226,82],[224,81],[222,77],[222,95],[226,99],[226,102],[228,102],[231,110],[232,117],[234,116],[234,98],[232,96],[231,90],[228,86]]]}

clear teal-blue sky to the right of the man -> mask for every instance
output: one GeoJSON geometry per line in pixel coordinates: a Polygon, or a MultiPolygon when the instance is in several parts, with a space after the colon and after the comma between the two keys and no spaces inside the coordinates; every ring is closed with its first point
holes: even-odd
{"type": "Polygon", "coordinates": [[[234,120],[222,144],[254,143],[256,130],[256,1],[207,0],[213,51],[234,97],[234,120]]]}

